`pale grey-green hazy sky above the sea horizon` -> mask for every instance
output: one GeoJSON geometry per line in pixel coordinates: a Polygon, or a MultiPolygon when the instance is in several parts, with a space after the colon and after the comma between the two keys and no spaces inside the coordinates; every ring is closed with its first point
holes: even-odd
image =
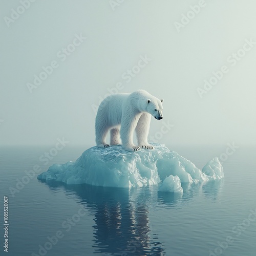
{"type": "Polygon", "coordinates": [[[2,145],[93,146],[100,99],[138,89],[164,98],[160,143],[255,144],[255,0],[24,2],[0,4],[2,145]]]}

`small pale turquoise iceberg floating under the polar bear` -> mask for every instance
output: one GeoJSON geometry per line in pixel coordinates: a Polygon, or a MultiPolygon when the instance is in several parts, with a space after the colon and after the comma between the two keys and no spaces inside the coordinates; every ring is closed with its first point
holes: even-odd
{"type": "Polygon", "coordinates": [[[84,151],[75,162],[50,166],[37,179],[104,187],[161,184],[160,191],[181,193],[181,183],[201,183],[224,177],[223,167],[217,157],[200,170],[164,144],[153,145],[153,150],[141,149],[137,152],[125,151],[121,145],[108,148],[94,146],[84,151]]]}

